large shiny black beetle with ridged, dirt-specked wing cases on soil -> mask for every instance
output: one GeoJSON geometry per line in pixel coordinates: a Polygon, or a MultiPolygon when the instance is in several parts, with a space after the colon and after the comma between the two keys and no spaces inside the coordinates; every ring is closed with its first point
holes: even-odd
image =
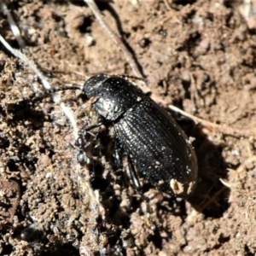
{"type": "Polygon", "coordinates": [[[113,126],[138,190],[137,172],[142,172],[169,195],[191,194],[197,180],[195,152],[166,110],[123,76],[99,73],[84,83],[83,92],[92,100],[103,124],[113,126]]]}

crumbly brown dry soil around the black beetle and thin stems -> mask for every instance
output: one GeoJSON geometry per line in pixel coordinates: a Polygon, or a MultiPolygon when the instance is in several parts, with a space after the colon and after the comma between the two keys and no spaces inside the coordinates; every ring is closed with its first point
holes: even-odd
{"type": "MultiPolygon", "coordinates": [[[[83,1],[9,2],[24,52],[55,86],[80,83],[93,73],[132,75],[119,46],[83,1]]],[[[176,0],[172,9],[168,0],[138,2],[98,5],[154,96],[202,119],[253,129],[253,16],[246,22],[238,2],[176,0]]],[[[6,17],[0,19],[1,34],[18,48],[6,17]]],[[[145,201],[125,172],[116,170],[108,132],[95,141],[100,150],[90,148],[92,165],[79,166],[73,129],[61,108],[49,96],[32,101],[33,90],[43,91],[38,79],[2,45],[0,50],[1,255],[256,253],[253,132],[230,137],[187,126],[199,162],[195,194],[173,199],[144,181],[152,208],[148,219],[145,201]]],[[[81,128],[96,116],[79,94],[62,93],[81,128]]]]}

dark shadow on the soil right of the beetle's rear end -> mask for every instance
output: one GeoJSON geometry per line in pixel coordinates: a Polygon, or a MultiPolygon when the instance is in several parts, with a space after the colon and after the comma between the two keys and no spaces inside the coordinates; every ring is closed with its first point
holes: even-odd
{"type": "Polygon", "coordinates": [[[194,125],[189,131],[188,126],[185,127],[180,122],[178,124],[188,137],[195,137],[192,144],[197,156],[198,181],[194,193],[187,201],[206,218],[220,218],[230,207],[230,188],[220,181],[227,178],[227,168],[230,167],[222,156],[223,146],[213,144],[202,131],[201,125],[194,125]]]}

